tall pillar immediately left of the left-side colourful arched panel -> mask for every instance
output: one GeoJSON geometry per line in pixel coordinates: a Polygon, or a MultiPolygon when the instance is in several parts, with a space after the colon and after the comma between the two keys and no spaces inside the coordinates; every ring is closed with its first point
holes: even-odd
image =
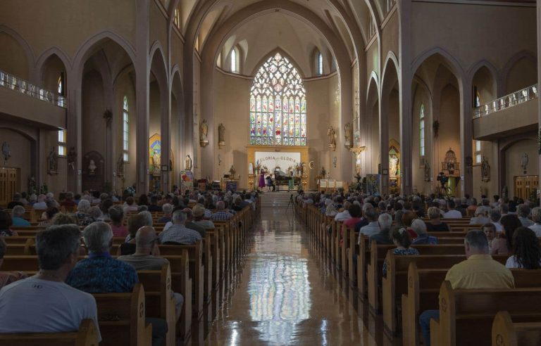
{"type": "Polygon", "coordinates": [[[137,193],[149,191],[149,0],[137,0],[135,108],[137,112],[137,193]]]}

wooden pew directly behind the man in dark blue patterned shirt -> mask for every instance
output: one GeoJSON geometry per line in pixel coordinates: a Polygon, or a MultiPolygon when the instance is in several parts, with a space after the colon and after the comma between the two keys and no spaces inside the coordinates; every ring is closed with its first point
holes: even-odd
{"type": "Polygon", "coordinates": [[[94,293],[98,307],[101,346],[149,346],[152,326],[145,322],[144,289],[137,283],[131,293],[94,293]]]}

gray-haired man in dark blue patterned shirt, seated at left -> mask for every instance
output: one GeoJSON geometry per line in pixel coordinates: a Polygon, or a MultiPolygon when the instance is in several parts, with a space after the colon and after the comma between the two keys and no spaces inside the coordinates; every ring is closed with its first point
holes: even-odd
{"type": "MultiPolygon", "coordinates": [[[[83,238],[88,257],[81,259],[66,278],[66,283],[87,293],[129,293],[139,282],[137,271],[109,254],[113,242],[111,226],[94,222],[85,227],[83,238]]],[[[167,323],[162,319],[147,318],[152,323],[152,345],[161,345],[167,333],[167,323]]]]}

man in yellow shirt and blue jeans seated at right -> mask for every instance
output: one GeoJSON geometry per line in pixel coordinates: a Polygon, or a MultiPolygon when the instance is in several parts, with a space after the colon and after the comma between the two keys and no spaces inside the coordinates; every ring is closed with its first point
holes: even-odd
{"type": "MultiPolygon", "coordinates": [[[[445,276],[452,288],[514,288],[511,271],[488,255],[487,236],[481,230],[469,231],[464,238],[466,261],[455,264],[445,276]]],[[[430,319],[439,319],[440,310],[426,310],[419,316],[425,345],[430,346],[430,319]]]]}

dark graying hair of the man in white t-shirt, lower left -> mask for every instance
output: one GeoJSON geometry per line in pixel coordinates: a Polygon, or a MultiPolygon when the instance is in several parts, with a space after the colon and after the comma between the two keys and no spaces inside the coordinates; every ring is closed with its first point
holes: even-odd
{"type": "Polygon", "coordinates": [[[81,231],[75,224],[49,226],[36,236],[36,250],[39,268],[57,270],[66,259],[79,250],[81,231]]]}

